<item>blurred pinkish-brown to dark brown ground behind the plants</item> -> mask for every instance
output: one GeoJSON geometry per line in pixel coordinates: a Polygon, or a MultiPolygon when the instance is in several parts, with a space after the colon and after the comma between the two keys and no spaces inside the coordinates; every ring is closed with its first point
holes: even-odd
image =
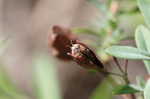
{"type": "MultiPolygon", "coordinates": [[[[128,8],[128,4],[122,3],[125,8],[128,8]]],[[[0,0],[0,38],[8,38],[8,47],[1,55],[1,60],[13,83],[36,99],[32,58],[35,53],[46,53],[51,56],[48,33],[52,32],[52,26],[87,27],[99,16],[102,20],[101,12],[87,0],[0,0]]],[[[140,18],[142,19],[142,16],[140,18]]],[[[132,33],[136,25],[126,24],[133,19],[134,16],[124,15],[120,25],[132,33]]],[[[134,45],[133,41],[124,43],[134,45]]],[[[63,98],[89,99],[102,77],[99,74],[90,74],[74,62],[68,63],[53,58],[63,98]]],[[[129,61],[132,81],[137,74],[145,75],[145,73],[142,62],[129,61]]]]}

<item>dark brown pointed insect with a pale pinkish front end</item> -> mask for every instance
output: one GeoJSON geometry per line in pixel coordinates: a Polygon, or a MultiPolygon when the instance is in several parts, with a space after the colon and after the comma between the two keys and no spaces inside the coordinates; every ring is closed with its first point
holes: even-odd
{"type": "Polygon", "coordinates": [[[103,64],[96,57],[95,53],[85,44],[77,40],[71,40],[70,49],[71,52],[67,54],[70,55],[80,66],[89,69],[104,69],[103,64]]]}

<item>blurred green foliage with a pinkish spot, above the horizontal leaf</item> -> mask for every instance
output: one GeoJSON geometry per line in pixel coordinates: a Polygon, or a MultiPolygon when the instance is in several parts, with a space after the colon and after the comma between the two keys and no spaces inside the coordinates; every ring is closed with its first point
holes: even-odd
{"type": "MultiPolygon", "coordinates": [[[[87,28],[73,28],[74,33],[93,35],[98,39],[98,44],[92,44],[96,52],[105,63],[111,57],[104,49],[118,44],[123,40],[133,39],[133,31],[144,22],[139,12],[136,0],[88,0],[100,13],[93,25],[87,28]]],[[[93,21],[92,21],[93,22],[93,21]]],[[[94,42],[93,42],[94,43],[94,42]]]]}

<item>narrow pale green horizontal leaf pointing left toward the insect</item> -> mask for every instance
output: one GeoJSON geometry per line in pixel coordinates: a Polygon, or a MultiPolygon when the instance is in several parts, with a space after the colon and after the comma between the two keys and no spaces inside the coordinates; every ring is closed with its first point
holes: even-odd
{"type": "Polygon", "coordinates": [[[109,55],[112,55],[118,58],[150,60],[150,54],[148,52],[139,50],[134,47],[111,46],[107,48],[105,51],[109,55]]]}

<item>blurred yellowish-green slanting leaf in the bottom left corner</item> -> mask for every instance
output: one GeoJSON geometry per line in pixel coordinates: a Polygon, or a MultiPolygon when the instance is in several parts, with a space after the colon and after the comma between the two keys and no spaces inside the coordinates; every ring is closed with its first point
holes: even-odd
{"type": "Polygon", "coordinates": [[[15,84],[11,82],[2,67],[0,67],[0,99],[29,99],[25,93],[21,92],[15,84]]]}

